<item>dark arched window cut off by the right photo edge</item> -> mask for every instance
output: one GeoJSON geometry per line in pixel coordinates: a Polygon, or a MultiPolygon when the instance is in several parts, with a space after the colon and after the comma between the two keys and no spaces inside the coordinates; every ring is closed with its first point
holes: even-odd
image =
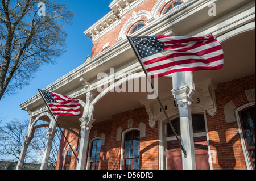
{"type": "Polygon", "coordinates": [[[255,169],[255,106],[240,112],[240,123],[252,169],[255,169]]]}

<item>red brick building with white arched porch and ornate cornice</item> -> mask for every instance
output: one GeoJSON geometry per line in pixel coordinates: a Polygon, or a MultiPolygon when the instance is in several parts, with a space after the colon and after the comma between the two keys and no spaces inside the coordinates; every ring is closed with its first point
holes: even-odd
{"type": "MultiPolygon", "coordinates": [[[[56,169],[184,169],[184,154],[158,101],[149,98],[152,89],[126,35],[211,33],[224,50],[222,69],[193,71],[186,90],[174,86],[175,73],[154,86],[183,145],[175,92],[193,92],[188,109],[195,169],[255,169],[255,1],[114,0],[109,7],[84,32],[93,41],[92,55],[44,89],[79,99],[83,112],[57,116],[79,162],[61,138],[56,169]]],[[[39,95],[20,107],[31,110],[28,144],[38,119],[50,123],[54,136],[56,125],[39,95]]]]}

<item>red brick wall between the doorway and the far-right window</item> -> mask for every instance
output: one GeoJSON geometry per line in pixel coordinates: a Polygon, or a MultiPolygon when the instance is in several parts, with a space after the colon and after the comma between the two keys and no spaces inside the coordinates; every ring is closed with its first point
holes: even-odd
{"type": "Polygon", "coordinates": [[[237,122],[226,123],[223,107],[230,100],[236,107],[246,104],[245,90],[253,88],[255,88],[255,74],[217,86],[215,94],[218,112],[214,117],[207,115],[210,150],[217,154],[213,163],[214,170],[247,169],[237,122]]]}

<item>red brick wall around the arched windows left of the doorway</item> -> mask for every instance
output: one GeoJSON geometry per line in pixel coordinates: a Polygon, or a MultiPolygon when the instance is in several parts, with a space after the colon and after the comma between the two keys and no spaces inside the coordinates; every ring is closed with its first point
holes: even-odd
{"type": "MultiPolygon", "coordinates": [[[[146,124],[146,137],[143,137],[140,140],[140,169],[158,169],[158,124],[156,123],[154,128],[151,128],[148,125],[148,115],[144,107],[118,113],[117,115],[113,115],[112,119],[110,120],[93,124],[93,127],[90,130],[89,140],[93,138],[93,133],[96,130],[96,137],[101,137],[102,133],[105,134],[105,144],[101,146],[99,169],[120,169],[121,141],[117,141],[117,129],[121,127],[122,131],[125,131],[128,128],[127,120],[129,119],[133,119],[133,128],[138,128],[140,122],[146,124]]],[[[77,153],[77,137],[67,131],[64,131],[64,133],[67,135],[70,144],[72,146],[76,145],[75,151],[77,153]]],[[[65,150],[67,148],[67,142],[63,137],[61,137],[56,170],[62,169],[64,159],[64,155],[62,155],[63,149],[65,150]]],[[[87,153],[90,153],[89,146],[87,153]]],[[[76,159],[73,155],[71,162],[70,169],[75,169],[76,159]]]]}

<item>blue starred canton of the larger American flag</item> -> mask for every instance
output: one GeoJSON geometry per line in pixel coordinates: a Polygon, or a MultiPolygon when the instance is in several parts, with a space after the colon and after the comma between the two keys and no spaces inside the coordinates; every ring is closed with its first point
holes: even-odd
{"type": "Polygon", "coordinates": [[[139,56],[145,58],[164,50],[164,43],[156,36],[131,37],[139,56]]]}

